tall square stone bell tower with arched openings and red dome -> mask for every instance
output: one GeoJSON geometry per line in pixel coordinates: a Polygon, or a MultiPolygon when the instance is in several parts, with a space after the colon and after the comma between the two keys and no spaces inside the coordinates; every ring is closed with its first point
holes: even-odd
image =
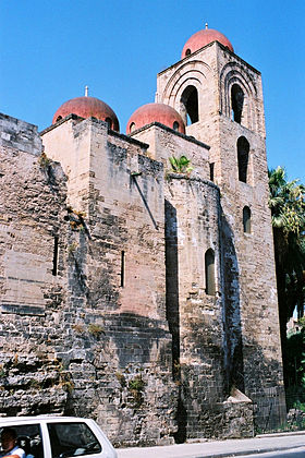
{"type": "Polygon", "coordinates": [[[204,178],[221,192],[228,387],[251,398],[265,421],[269,408],[268,427],[276,427],[285,401],[260,72],[206,25],[186,41],[181,60],[158,74],[156,101],[173,107],[186,135],[210,146],[204,178]]]}

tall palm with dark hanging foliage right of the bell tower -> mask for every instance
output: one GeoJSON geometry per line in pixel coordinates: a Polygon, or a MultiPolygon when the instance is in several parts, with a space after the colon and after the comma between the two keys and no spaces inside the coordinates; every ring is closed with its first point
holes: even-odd
{"type": "MultiPolygon", "coordinates": [[[[298,180],[286,181],[282,167],[269,170],[269,206],[273,226],[279,306],[280,315],[285,322],[295,308],[298,317],[304,315],[305,186],[297,182],[298,180]]],[[[282,328],[284,325],[282,324],[282,328]]]]}

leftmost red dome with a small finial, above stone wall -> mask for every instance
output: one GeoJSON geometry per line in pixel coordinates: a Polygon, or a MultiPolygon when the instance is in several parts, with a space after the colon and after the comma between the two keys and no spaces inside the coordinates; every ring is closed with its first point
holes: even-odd
{"type": "Polygon", "coordinates": [[[77,114],[82,118],[97,118],[106,121],[110,129],[119,131],[119,121],[114,111],[96,97],[75,97],[62,104],[53,116],[52,124],[66,117],[68,114],[77,114]]]}

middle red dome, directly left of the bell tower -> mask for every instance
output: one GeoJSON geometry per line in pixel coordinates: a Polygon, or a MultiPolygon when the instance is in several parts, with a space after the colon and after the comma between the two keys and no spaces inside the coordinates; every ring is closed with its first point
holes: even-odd
{"type": "Polygon", "coordinates": [[[147,104],[139,107],[131,116],[126,132],[130,134],[136,129],[141,129],[151,122],[160,122],[178,132],[185,133],[185,125],[179,112],[164,104],[147,104]]]}

